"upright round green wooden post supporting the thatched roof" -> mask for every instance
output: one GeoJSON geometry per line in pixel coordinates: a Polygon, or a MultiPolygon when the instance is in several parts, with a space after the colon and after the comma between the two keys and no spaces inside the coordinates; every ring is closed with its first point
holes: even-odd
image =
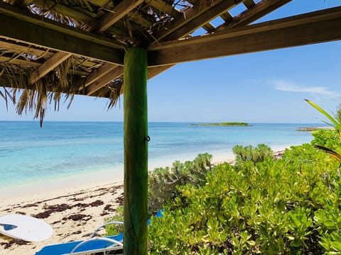
{"type": "Polygon", "coordinates": [[[124,55],[124,254],[147,254],[147,52],[124,55]]]}

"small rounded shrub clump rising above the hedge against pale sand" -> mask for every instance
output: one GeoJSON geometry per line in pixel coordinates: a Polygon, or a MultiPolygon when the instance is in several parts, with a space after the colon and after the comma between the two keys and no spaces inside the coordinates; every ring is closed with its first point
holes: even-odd
{"type": "Polygon", "coordinates": [[[241,145],[234,146],[232,149],[236,155],[237,164],[241,162],[262,162],[266,158],[273,158],[274,152],[267,145],[257,145],[252,147],[251,145],[242,147],[241,145]]]}

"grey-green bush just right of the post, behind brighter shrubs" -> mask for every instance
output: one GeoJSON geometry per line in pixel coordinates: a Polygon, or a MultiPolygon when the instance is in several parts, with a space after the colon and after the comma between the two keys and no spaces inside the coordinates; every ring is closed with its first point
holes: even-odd
{"type": "Polygon", "coordinates": [[[210,171],[212,155],[198,154],[192,161],[173,163],[172,168],[158,168],[149,173],[148,177],[148,211],[154,215],[166,201],[175,198],[176,186],[192,183],[205,183],[206,173],[210,171]]]}

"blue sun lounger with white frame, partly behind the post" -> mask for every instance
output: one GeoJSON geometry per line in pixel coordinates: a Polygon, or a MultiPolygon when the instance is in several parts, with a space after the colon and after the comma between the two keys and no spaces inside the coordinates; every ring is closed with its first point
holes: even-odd
{"type": "MultiPolygon", "coordinates": [[[[163,217],[162,210],[156,213],[156,217],[163,217]]],[[[148,225],[150,223],[148,219],[148,225]]],[[[99,229],[109,224],[123,224],[123,222],[108,222],[97,227],[90,235],[89,239],[63,244],[50,244],[36,253],[36,255],[85,255],[96,254],[98,252],[107,252],[123,249],[123,233],[109,237],[94,237],[99,229]]]]}

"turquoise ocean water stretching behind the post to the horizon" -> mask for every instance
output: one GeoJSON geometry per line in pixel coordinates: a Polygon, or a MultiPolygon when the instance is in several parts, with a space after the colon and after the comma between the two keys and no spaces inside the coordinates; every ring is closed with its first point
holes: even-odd
{"type": "MultiPolygon", "coordinates": [[[[251,127],[149,123],[148,162],[194,159],[199,153],[230,154],[234,145],[271,148],[310,142],[296,128],[321,124],[251,123],[251,127]]],[[[123,123],[0,121],[0,188],[87,174],[123,171],[123,123]]]]}

